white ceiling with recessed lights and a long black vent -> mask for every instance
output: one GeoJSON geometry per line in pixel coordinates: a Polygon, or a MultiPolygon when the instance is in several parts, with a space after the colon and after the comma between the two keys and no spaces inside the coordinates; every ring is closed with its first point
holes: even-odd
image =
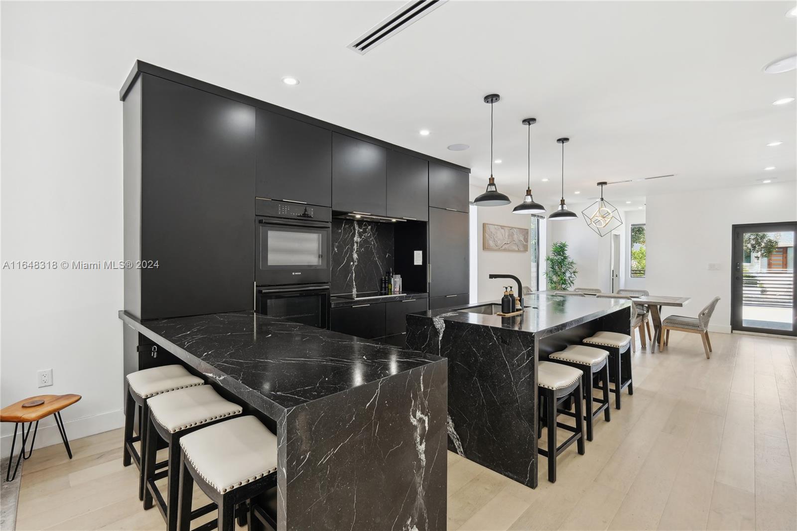
{"type": "Polygon", "coordinates": [[[794,2],[458,2],[366,55],[346,48],[404,2],[2,2],[2,58],[120,88],[154,63],[489,175],[501,191],[586,200],[795,179],[794,2]],[[281,83],[294,76],[300,85],[281,83]],[[428,128],[430,136],[419,136],[428,128]],[[765,146],[781,140],[777,148],[765,146]],[[449,144],[469,144],[454,152],[449,144]],[[775,166],[775,171],[763,168],[775,166]],[[550,179],[548,183],[541,179],[550,179]],[[578,197],[572,195],[581,191],[578,197]]]}

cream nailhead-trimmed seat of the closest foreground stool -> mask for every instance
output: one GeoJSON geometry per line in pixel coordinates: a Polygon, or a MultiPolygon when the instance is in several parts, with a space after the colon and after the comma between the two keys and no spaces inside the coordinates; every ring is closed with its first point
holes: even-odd
{"type": "Polygon", "coordinates": [[[194,431],[180,446],[194,470],[222,494],[277,470],[277,437],[251,415],[194,431]]]}

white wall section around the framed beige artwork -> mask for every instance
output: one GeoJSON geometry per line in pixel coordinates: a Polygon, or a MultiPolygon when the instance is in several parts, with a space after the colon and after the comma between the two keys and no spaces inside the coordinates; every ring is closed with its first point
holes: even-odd
{"type": "MultiPolygon", "coordinates": [[[[477,195],[483,193],[485,187],[470,187],[470,199],[473,200],[477,195]]],[[[502,190],[506,193],[505,190],[502,190]]],[[[476,301],[493,301],[501,299],[504,295],[502,286],[512,285],[515,283],[511,279],[496,278],[490,280],[489,273],[508,273],[520,278],[523,285],[532,284],[532,253],[529,249],[525,253],[510,252],[510,251],[494,251],[484,250],[484,242],[482,242],[482,226],[484,223],[493,223],[494,225],[516,226],[522,228],[530,228],[531,216],[512,214],[512,208],[516,207],[523,198],[509,195],[512,203],[506,207],[471,207],[471,216],[476,212],[476,226],[475,234],[471,234],[472,244],[475,240],[476,244],[476,262],[477,269],[474,272],[471,267],[471,277],[476,275],[477,297],[476,301]]],[[[517,288],[513,288],[517,291],[517,288]]],[[[473,293],[471,293],[473,300],[473,293]]]]}

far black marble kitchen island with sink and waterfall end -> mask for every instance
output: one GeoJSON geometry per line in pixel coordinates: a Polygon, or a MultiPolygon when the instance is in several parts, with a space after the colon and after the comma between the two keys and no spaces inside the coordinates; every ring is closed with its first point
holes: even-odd
{"type": "Polygon", "coordinates": [[[626,299],[532,294],[524,312],[478,303],[410,313],[406,344],[448,364],[448,446],[526,486],[537,485],[537,366],[601,330],[630,333],[626,299]]]}

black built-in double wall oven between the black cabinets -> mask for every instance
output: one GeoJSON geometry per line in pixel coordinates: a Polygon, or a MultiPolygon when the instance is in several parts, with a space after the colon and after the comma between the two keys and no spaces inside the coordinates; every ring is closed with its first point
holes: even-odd
{"type": "Polygon", "coordinates": [[[255,199],[255,311],[329,328],[332,209],[255,199]]]}

